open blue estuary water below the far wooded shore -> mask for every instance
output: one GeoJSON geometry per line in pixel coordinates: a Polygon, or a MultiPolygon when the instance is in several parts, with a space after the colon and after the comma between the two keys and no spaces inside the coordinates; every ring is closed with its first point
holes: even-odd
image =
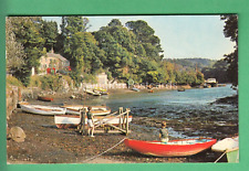
{"type": "Polygon", "coordinates": [[[111,94],[92,99],[92,104],[105,104],[117,110],[118,107],[131,108],[134,116],[177,117],[178,115],[201,115],[203,113],[237,113],[231,105],[210,105],[218,98],[236,95],[237,92],[225,87],[196,88],[177,90],[158,90],[155,93],[134,92],[111,94]]]}

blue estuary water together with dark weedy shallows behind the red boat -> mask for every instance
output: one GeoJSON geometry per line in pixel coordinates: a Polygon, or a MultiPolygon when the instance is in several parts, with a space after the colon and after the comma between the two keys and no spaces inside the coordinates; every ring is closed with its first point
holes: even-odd
{"type": "MultiPolygon", "coordinates": [[[[179,125],[189,124],[198,126],[197,131],[186,136],[186,130],[174,130],[168,128],[174,137],[195,137],[195,136],[212,136],[229,135],[231,127],[219,127],[221,125],[238,126],[238,107],[229,104],[216,104],[219,98],[236,95],[237,92],[230,88],[231,85],[225,87],[196,88],[177,90],[155,90],[132,92],[124,94],[111,94],[108,96],[93,98],[92,105],[107,105],[113,111],[117,111],[118,107],[131,108],[131,115],[139,117],[160,118],[173,120],[179,125]],[[206,128],[201,128],[206,125],[206,128]],[[212,129],[210,129],[212,128],[212,129]]],[[[149,127],[149,126],[148,126],[149,127]]],[[[184,126],[180,126],[181,128],[184,126]]],[[[187,127],[187,126],[185,126],[187,127]]],[[[156,128],[147,128],[155,131],[156,128]]]]}

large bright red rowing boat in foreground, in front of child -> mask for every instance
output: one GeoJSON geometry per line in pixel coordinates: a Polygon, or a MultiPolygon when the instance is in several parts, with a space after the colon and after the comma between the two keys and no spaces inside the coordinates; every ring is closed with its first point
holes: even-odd
{"type": "Polygon", "coordinates": [[[211,138],[172,140],[168,142],[125,139],[124,143],[126,147],[143,154],[155,157],[186,157],[210,148],[216,141],[216,139],[211,138]]]}

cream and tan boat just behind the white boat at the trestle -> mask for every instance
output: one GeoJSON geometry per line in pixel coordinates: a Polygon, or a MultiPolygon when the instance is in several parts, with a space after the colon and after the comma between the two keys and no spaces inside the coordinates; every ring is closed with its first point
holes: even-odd
{"type": "MultiPolygon", "coordinates": [[[[84,106],[84,105],[64,105],[61,107],[65,108],[66,109],[65,113],[71,115],[80,115],[80,110],[85,109],[87,111],[87,108],[89,108],[89,106],[84,106]]],[[[107,106],[91,106],[91,107],[92,107],[92,113],[95,116],[111,114],[111,109],[107,106]]]]}

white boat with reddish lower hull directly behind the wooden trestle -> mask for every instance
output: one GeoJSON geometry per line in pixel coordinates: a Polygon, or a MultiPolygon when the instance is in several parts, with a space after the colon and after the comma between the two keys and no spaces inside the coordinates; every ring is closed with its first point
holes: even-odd
{"type": "MultiPolygon", "coordinates": [[[[128,116],[128,122],[132,121],[132,116],[128,116]]],[[[54,122],[58,128],[71,128],[76,127],[81,122],[81,117],[79,115],[55,115],[54,122]]],[[[98,124],[112,124],[114,126],[120,125],[120,117],[115,116],[96,116],[93,119],[95,125],[98,124]]],[[[85,126],[87,126],[87,119],[85,118],[85,126]]]]}

